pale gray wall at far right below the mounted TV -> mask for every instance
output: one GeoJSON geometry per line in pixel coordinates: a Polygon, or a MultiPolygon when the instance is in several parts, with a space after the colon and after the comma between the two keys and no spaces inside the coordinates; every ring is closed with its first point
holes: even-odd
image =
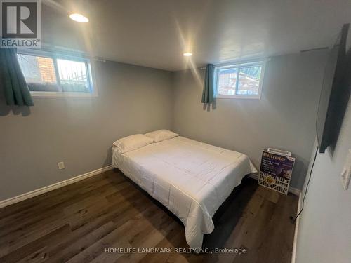
{"type": "MultiPolygon", "coordinates": [[[[317,144],[314,150],[316,147],[317,144]]],[[[351,100],[333,155],[329,149],[325,154],[317,154],[305,208],[300,215],[296,263],[351,261],[351,184],[345,191],[340,181],[349,149],[351,100]]]]}

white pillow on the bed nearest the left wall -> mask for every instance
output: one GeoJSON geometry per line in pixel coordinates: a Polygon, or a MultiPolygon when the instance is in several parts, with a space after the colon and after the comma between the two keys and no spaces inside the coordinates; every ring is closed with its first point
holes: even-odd
{"type": "Polygon", "coordinates": [[[147,144],[154,142],[150,137],[147,137],[143,134],[135,134],[127,137],[123,137],[116,142],[114,142],[114,146],[118,147],[121,154],[124,154],[128,151],[133,151],[139,149],[140,147],[144,147],[147,144]]]}

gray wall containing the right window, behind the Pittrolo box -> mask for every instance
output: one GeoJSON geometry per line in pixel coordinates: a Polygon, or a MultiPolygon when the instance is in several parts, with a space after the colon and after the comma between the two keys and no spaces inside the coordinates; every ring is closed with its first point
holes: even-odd
{"type": "Polygon", "coordinates": [[[185,137],[243,152],[257,167],[265,147],[292,151],[297,161],[291,187],[300,189],[314,142],[325,62],[325,51],[274,57],[266,65],[260,100],[218,99],[209,111],[200,102],[204,70],[199,78],[176,72],[173,128],[185,137]]]}

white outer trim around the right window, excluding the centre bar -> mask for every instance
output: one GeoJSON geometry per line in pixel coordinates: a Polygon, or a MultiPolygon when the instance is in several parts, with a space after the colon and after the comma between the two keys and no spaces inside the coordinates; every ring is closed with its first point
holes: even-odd
{"type": "Polygon", "coordinates": [[[263,89],[263,80],[265,78],[265,65],[266,65],[267,59],[258,59],[258,60],[241,60],[233,63],[226,63],[225,65],[216,65],[215,66],[215,79],[216,79],[216,87],[215,87],[215,97],[216,99],[254,99],[254,100],[260,100],[261,95],[262,95],[262,89],[263,89]],[[232,67],[237,67],[237,66],[250,66],[250,65],[257,65],[258,62],[262,65],[261,67],[261,75],[260,75],[260,84],[258,86],[258,94],[257,95],[218,95],[217,94],[217,88],[218,88],[218,70],[219,69],[225,69],[225,68],[232,68],[232,67]]]}

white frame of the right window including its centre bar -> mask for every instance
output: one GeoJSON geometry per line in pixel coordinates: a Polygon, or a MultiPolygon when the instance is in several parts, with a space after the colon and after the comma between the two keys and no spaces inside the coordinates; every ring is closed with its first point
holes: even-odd
{"type": "Polygon", "coordinates": [[[258,60],[241,60],[238,62],[232,62],[232,63],[227,63],[227,64],[222,64],[222,65],[216,65],[215,66],[215,71],[214,71],[214,79],[215,79],[215,94],[214,96],[217,99],[256,99],[260,100],[261,95],[262,95],[262,88],[263,88],[263,79],[265,76],[265,65],[266,65],[266,60],[264,59],[258,59],[258,60]],[[237,83],[235,87],[235,93],[237,93],[237,90],[239,89],[239,79],[240,79],[240,69],[242,67],[252,67],[260,65],[261,66],[261,74],[260,74],[260,83],[258,84],[258,94],[257,95],[248,95],[248,94],[234,94],[234,95],[221,95],[217,93],[218,90],[218,81],[219,81],[219,72],[220,69],[233,69],[237,68],[237,83]]]}

